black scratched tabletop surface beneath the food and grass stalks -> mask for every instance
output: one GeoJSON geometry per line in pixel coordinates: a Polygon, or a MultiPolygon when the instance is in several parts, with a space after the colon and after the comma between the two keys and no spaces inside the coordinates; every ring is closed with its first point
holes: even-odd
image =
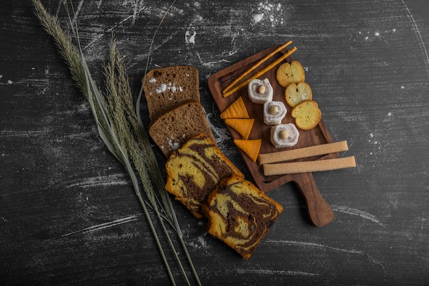
{"type": "MultiPolygon", "coordinates": [[[[42,3],[67,28],[62,1],[42,3]]],[[[2,4],[0,285],[169,285],[130,179],[99,138],[31,1],[2,4]]],[[[170,4],[73,1],[98,83],[114,32],[137,97],[170,4]]],[[[429,285],[428,2],[177,0],[149,69],[199,70],[217,142],[248,178],[207,80],[287,40],[332,139],[349,143],[341,156],[356,156],[357,167],[313,174],[335,213],[321,228],[310,224],[293,183],[270,191],[284,211],[248,261],[173,202],[201,284],[429,285]]],[[[145,105],[142,112],[148,124],[145,105]]],[[[169,251],[167,259],[184,285],[169,251]]]]}

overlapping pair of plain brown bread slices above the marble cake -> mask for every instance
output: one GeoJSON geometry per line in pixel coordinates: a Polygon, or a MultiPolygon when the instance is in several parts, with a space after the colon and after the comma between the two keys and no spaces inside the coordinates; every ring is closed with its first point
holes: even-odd
{"type": "Polygon", "coordinates": [[[151,121],[149,134],[167,158],[195,134],[203,133],[215,141],[199,101],[197,69],[153,69],[145,76],[143,91],[151,121]]]}

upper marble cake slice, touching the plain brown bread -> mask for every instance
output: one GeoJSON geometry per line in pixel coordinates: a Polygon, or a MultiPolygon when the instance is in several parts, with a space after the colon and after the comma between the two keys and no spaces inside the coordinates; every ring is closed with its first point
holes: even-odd
{"type": "Polygon", "coordinates": [[[171,154],[166,163],[167,191],[175,195],[195,217],[203,217],[201,204],[219,180],[237,174],[243,177],[208,136],[199,134],[171,154]]]}

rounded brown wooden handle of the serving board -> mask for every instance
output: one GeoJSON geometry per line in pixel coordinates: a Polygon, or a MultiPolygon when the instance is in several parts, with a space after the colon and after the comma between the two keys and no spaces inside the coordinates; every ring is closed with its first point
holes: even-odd
{"type": "Polygon", "coordinates": [[[334,211],[323,199],[322,195],[317,189],[315,178],[311,173],[302,173],[293,178],[297,188],[304,196],[306,202],[308,216],[310,221],[315,226],[326,226],[334,220],[334,211]]]}

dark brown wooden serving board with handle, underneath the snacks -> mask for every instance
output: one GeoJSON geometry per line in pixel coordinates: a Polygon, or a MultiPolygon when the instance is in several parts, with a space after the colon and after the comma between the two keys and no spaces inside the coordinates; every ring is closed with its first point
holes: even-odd
{"type": "MultiPolygon", "coordinates": [[[[230,82],[238,78],[238,76],[242,75],[247,71],[250,67],[252,67],[258,60],[267,56],[271,51],[280,47],[280,45],[275,45],[273,47],[269,47],[259,53],[250,56],[249,58],[245,58],[245,60],[241,60],[236,64],[232,64],[232,66],[227,67],[221,71],[210,76],[208,79],[208,88],[210,89],[210,93],[212,94],[217,107],[220,112],[223,112],[232,102],[234,102],[238,97],[243,97],[245,105],[247,107],[247,112],[249,113],[249,117],[255,119],[254,126],[252,128],[252,132],[249,136],[249,139],[262,139],[262,147],[260,149],[260,154],[270,153],[270,152],[278,152],[282,150],[291,150],[299,147],[308,147],[312,145],[319,145],[324,143],[332,143],[332,138],[326,129],[323,121],[319,123],[316,128],[312,130],[304,131],[299,130],[299,140],[297,145],[293,147],[284,147],[284,148],[275,148],[270,141],[270,130],[271,126],[268,126],[263,121],[263,105],[262,104],[254,104],[247,95],[247,86],[241,88],[236,91],[232,95],[228,97],[223,97],[222,90],[230,82]]],[[[247,75],[242,81],[246,80],[250,76],[254,75],[256,72],[260,71],[264,67],[267,67],[271,62],[282,56],[282,53],[286,53],[286,49],[277,53],[275,56],[267,60],[264,64],[262,64],[258,69],[253,71],[250,75],[247,75]]],[[[291,57],[286,58],[285,62],[291,62],[291,57]]],[[[280,64],[279,64],[280,66],[280,64]]],[[[284,90],[283,86],[278,84],[277,79],[275,78],[275,73],[278,67],[274,67],[270,71],[267,71],[264,75],[261,75],[259,78],[263,80],[268,78],[271,86],[273,86],[273,101],[282,101],[286,108],[287,113],[286,117],[283,119],[282,123],[295,123],[293,117],[291,117],[292,108],[286,104],[284,98],[284,90]]],[[[313,100],[317,102],[317,95],[313,94],[313,100]]],[[[322,114],[323,114],[323,110],[322,114]]],[[[241,135],[238,134],[234,129],[228,127],[231,136],[233,139],[242,139],[241,135]]],[[[241,150],[240,150],[241,152],[241,150]]],[[[334,219],[334,213],[332,212],[332,208],[328,205],[328,203],[323,199],[319,190],[317,189],[317,185],[315,184],[315,180],[311,173],[305,174],[286,174],[279,176],[264,176],[262,165],[259,165],[258,162],[254,162],[247,154],[241,152],[241,156],[245,162],[249,173],[251,174],[254,183],[264,192],[271,191],[276,187],[280,187],[282,184],[286,182],[295,182],[299,191],[301,191],[302,195],[304,195],[304,200],[306,200],[306,205],[308,209],[308,214],[310,216],[310,220],[316,226],[323,226],[328,224],[334,219]]],[[[304,158],[298,160],[319,160],[321,158],[337,158],[339,156],[338,153],[328,154],[325,156],[315,156],[311,158],[304,158]]],[[[295,160],[295,161],[298,161],[295,160]]]]}

